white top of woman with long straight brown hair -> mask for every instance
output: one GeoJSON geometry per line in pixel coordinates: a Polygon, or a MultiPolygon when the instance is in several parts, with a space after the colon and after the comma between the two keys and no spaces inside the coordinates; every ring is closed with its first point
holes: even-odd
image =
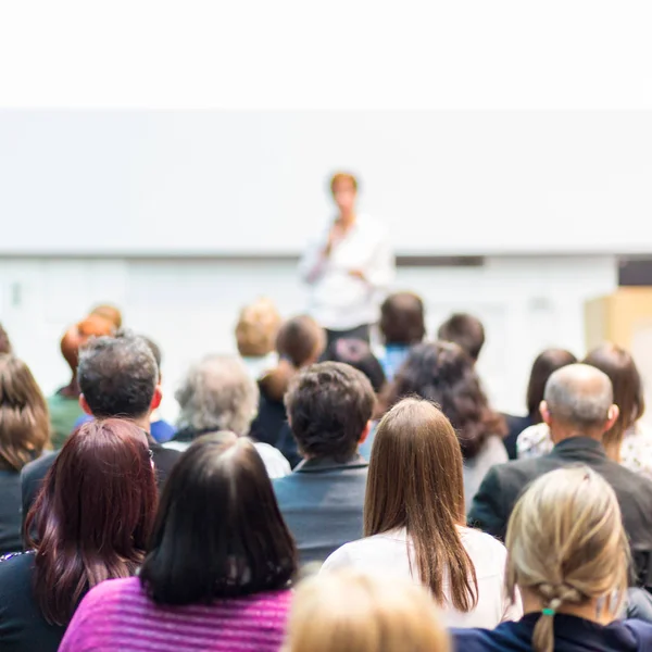
{"type": "MultiPolygon", "coordinates": [[[[504,620],[517,620],[523,615],[521,598],[512,604],[504,588],[505,547],[489,535],[467,527],[460,527],[462,543],[471,557],[478,579],[478,603],[467,613],[452,606],[441,609],[441,617],[446,627],[482,627],[493,629],[504,620]]],[[[410,569],[410,559],[414,554],[412,542],[405,529],[375,535],[342,546],[336,550],[322,566],[327,573],[346,566],[371,574],[392,575],[409,578],[421,584],[410,569]]],[[[416,573],[416,564],[413,564],[416,573]]],[[[449,590],[444,579],[444,595],[449,590]]]]}

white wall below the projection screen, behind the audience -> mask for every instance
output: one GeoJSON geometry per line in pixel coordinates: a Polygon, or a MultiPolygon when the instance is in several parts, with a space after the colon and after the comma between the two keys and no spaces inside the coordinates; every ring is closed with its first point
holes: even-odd
{"type": "MultiPolygon", "coordinates": [[[[421,293],[428,333],[454,310],[477,314],[487,329],[479,371],[497,408],[521,412],[529,366],[544,347],[584,353],[584,301],[616,287],[614,256],[488,258],[484,267],[405,268],[396,289],[421,293]]],[[[208,352],[234,351],[239,308],[272,297],[284,314],[303,310],[305,294],[291,262],[192,259],[2,259],[0,321],[42,388],[68,372],[59,354],[66,326],[93,303],[115,302],[126,325],[163,349],[166,399],[186,366],[208,352]]]]}

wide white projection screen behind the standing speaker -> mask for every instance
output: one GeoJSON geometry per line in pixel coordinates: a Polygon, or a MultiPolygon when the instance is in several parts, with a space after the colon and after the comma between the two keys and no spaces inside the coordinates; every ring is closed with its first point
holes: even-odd
{"type": "Polygon", "coordinates": [[[652,251],[651,112],[26,110],[0,254],[296,254],[337,170],[398,253],[652,251]]]}

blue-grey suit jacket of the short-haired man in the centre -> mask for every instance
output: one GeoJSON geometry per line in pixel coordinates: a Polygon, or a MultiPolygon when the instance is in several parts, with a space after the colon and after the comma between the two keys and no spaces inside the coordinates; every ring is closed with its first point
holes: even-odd
{"type": "Polygon", "coordinates": [[[274,480],[283,516],[297,540],[302,564],[323,562],[340,546],[362,538],[362,509],[368,464],[306,460],[274,480]]]}

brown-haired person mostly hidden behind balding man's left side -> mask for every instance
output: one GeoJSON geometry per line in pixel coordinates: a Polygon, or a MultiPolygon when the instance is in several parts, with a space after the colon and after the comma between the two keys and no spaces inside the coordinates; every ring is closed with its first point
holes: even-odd
{"type": "Polygon", "coordinates": [[[546,388],[548,378],[550,378],[550,374],[575,362],[577,362],[577,358],[564,349],[546,349],[546,351],[537,355],[530,372],[529,383],[527,384],[527,414],[525,416],[503,415],[507,423],[507,436],[504,438],[503,443],[507,449],[510,460],[516,460],[518,456],[516,453],[518,435],[526,428],[540,424],[542,421],[539,405],[543,400],[543,389],[546,388]]]}

